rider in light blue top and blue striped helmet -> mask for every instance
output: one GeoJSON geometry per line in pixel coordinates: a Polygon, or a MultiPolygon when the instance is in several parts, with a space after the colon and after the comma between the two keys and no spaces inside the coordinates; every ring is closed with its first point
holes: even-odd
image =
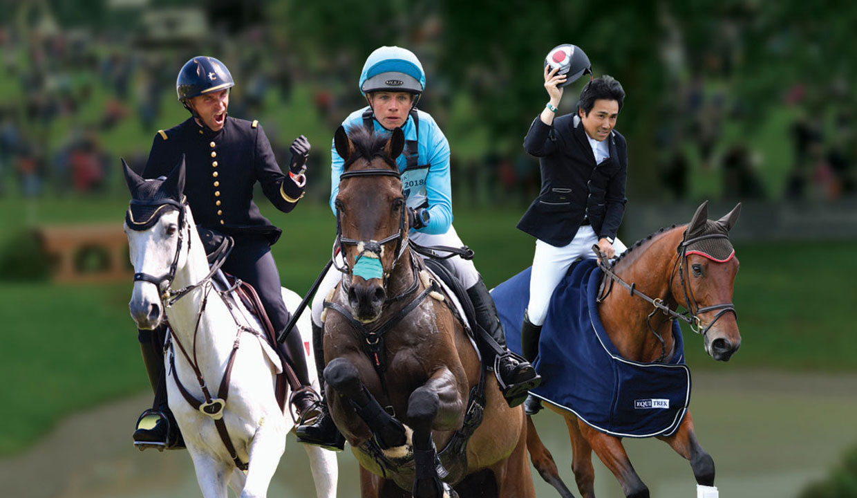
{"type": "MultiPolygon", "coordinates": [[[[399,156],[397,164],[402,176],[405,203],[409,210],[411,231],[408,237],[415,243],[426,246],[464,245],[452,227],[449,143],[434,117],[416,109],[417,100],[425,88],[422,64],[411,51],[396,46],[383,46],[373,51],[366,60],[359,87],[369,105],[345,118],[345,128],[367,127],[375,132],[401,128],[405,133],[405,153],[399,156]]],[[[339,156],[335,147],[332,147],[331,155],[330,204],[335,213],[339,175],[343,171],[344,159],[339,156]]],[[[496,374],[501,385],[509,387],[506,392],[510,393],[510,397],[511,393],[525,392],[536,387],[540,379],[530,363],[524,362],[523,358],[512,356],[506,350],[506,338],[494,308],[494,300],[472,261],[458,256],[449,261],[454,267],[455,276],[461,280],[476,309],[476,321],[491,337],[477,339],[481,341],[479,349],[484,361],[493,365],[494,357],[498,357],[499,368],[496,374]],[[488,341],[494,344],[488,344],[488,341]]],[[[328,272],[313,302],[313,347],[316,365],[320,370],[325,364],[321,343],[322,302],[339,279],[339,272],[328,272]]],[[[322,394],[323,392],[322,390],[322,394]]],[[[297,435],[298,441],[333,449],[342,449],[344,443],[324,405],[321,417],[318,417],[315,423],[298,427],[297,435]]]]}

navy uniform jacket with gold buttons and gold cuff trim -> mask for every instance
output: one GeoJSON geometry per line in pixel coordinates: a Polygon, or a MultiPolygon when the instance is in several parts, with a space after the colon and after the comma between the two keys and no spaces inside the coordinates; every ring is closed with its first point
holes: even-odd
{"type": "Polygon", "coordinates": [[[257,234],[275,243],[282,231],[259,213],[253,186],[273,205],[290,212],[303,196],[303,188],[285,176],[274,159],[271,143],[261,125],[226,117],[218,132],[202,128],[193,117],[160,130],[154,137],[144,178],[167,175],[185,154],[184,195],[197,225],[221,231],[239,240],[257,234]]]}

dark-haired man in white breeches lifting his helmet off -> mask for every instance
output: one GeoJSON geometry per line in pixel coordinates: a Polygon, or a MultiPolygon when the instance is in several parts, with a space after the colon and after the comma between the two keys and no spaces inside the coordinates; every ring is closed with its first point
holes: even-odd
{"type": "MultiPolygon", "coordinates": [[[[518,229],[536,237],[530,301],[521,327],[530,362],[536,359],[550,297],[572,262],[595,257],[591,248],[596,243],[608,257],[626,249],[616,231],[625,213],[627,145],[614,129],[625,91],[610,76],[591,79],[591,73],[589,57],[579,47],[554,47],[544,67],[548,104],[524,138],[524,149],[539,158],[542,171],[539,196],[518,222],[518,229]],[[584,74],[590,81],[578,109],[554,117],[563,87],[584,74]]],[[[533,411],[536,405],[528,400],[527,408],[533,411]]]]}

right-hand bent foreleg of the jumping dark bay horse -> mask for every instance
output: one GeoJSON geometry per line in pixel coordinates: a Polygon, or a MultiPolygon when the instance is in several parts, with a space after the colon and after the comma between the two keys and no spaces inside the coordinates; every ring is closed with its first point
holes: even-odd
{"type": "Polygon", "coordinates": [[[455,492],[440,481],[432,442],[432,429],[458,429],[464,420],[462,399],[455,376],[449,369],[437,369],[425,384],[417,387],[408,399],[408,422],[413,429],[416,478],[415,498],[455,496],[455,492]]]}

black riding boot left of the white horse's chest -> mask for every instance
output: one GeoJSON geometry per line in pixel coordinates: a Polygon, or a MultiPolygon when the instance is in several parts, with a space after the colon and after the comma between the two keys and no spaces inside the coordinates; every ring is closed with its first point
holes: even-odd
{"type": "Polygon", "coordinates": [[[143,411],[137,419],[134,431],[134,446],[143,451],[153,447],[159,451],[165,449],[181,449],[184,447],[182,433],[178,429],[176,419],[172,416],[166,400],[166,370],[164,368],[164,339],[166,326],[162,325],[154,330],[140,330],[140,351],[143,356],[143,364],[146,365],[146,373],[152,391],[155,394],[152,408],[143,411]],[[152,429],[143,429],[140,423],[149,416],[159,417],[152,429]]]}

